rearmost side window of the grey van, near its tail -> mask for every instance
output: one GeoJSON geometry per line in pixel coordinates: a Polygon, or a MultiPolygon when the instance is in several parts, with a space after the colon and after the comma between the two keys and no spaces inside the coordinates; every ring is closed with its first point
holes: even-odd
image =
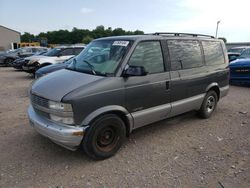
{"type": "Polygon", "coordinates": [[[207,65],[216,65],[225,63],[223,49],[220,42],[202,41],[205,61],[207,65]]]}

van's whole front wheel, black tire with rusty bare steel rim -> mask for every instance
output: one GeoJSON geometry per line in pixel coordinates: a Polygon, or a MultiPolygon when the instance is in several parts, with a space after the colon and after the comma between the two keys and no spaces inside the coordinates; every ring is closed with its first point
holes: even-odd
{"type": "Polygon", "coordinates": [[[113,156],[122,146],[126,137],[124,122],[117,115],[103,115],[87,129],[83,149],[92,159],[101,160],[113,156]]]}

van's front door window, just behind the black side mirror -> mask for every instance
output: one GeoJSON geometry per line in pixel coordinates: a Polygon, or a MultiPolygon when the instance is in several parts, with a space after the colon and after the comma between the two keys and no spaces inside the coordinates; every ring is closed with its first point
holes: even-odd
{"type": "Polygon", "coordinates": [[[164,64],[160,42],[146,41],[139,43],[128,64],[143,66],[149,74],[163,72],[164,64]]]}

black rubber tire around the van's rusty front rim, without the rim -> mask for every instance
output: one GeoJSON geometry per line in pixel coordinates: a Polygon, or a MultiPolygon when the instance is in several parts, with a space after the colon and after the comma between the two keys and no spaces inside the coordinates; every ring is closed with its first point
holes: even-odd
{"type": "Polygon", "coordinates": [[[90,127],[86,130],[83,139],[83,148],[86,154],[93,159],[105,159],[113,156],[121,147],[126,135],[126,128],[124,122],[117,115],[107,114],[103,115],[91,123],[90,127]],[[105,127],[112,125],[116,129],[119,139],[115,147],[109,152],[103,152],[96,146],[96,138],[98,133],[105,127]]]}

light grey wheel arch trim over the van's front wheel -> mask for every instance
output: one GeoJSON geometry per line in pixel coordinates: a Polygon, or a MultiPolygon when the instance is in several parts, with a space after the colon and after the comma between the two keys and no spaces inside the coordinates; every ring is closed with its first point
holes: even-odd
{"type": "Polygon", "coordinates": [[[91,112],[82,122],[82,126],[87,126],[89,125],[89,123],[95,119],[96,117],[98,117],[99,115],[101,114],[104,114],[104,113],[107,113],[107,112],[112,112],[112,111],[118,111],[118,112],[121,112],[123,113],[127,120],[128,120],[128,123],[129,123],[129,130],[130,132],[132,131],[133,129],[133,117],[131,116],[131,114],[127,111],[126,108],[122,107],[122,106],[118,106],[118,105],[109,105],[109,106],[104,106],[104,107],[101,107],[93,112],[91,112]]]}

